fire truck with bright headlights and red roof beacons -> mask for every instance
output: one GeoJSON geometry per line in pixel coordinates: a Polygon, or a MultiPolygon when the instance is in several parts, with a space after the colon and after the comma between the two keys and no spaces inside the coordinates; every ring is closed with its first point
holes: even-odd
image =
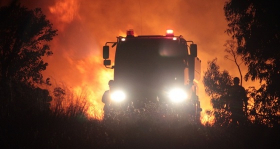
{"type": "Polygon", "coordinates": [[[172,29],[166,29],[165,35],[138,36],[128,29],[126,36],[105,43],[103,59],[105,67],[113,69],[111,104],[133,103],[136,108],[147,102],[160,102],[173,108],[183,105],[189,114],[200,119],[201,60],[193,41],[175,36],[172,29]],[[109,45],[116,46],[113,63],[109,59],[109,45]]]}

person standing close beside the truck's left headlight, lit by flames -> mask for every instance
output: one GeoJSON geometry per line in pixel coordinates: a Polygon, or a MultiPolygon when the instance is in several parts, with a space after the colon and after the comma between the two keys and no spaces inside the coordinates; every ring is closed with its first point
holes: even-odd
{"type": "Polygon", "coordinates": [[[103,95],[102,95],[102,102],[104,103],[103,111],[104,111],[104,118],[107,118],[110,114],[110,90],[113,86],[113,80],[108,81],[109,89],[105,90],[103,95]]]}

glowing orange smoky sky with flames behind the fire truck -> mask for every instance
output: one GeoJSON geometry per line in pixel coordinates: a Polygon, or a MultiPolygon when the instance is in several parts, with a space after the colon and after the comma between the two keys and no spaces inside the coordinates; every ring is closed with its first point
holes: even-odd
{"type": "MultiPolygon", "coordinates": [[[[50,42],[53,55],[44,59],[49,64],[44,77],[77,90],[86,85],[95,104],[102,106],[102,93],[113,75],[112,69],[102,65],[102,46],[106,41],[116,41],[116,36],[124,35],[126,29],[134,29],[136,35],[164,35],[166,28],[172,28],[175,35],[197,44],[201,73],[207,61],[217,57],[221,70],[239,76],[234,63],[223,59],[223,44],[230,38],[224,32],[224,0],[19,1],[28,8],[41,7],[53,28],[58,29],[58,35],[50,42]]],[[[8,4],[8,0],[0,4],[8,4]]],[[[209,109],[209,97],[201,80],[199,83],[201,107],[209,109]]],[[[246,88],[246,82],[243,85],[246,88]]]]}

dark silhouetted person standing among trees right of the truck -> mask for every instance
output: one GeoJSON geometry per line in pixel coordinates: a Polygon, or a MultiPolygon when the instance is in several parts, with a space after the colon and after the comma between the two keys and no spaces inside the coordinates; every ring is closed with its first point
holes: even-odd
{"type": "Polygon", "coordinates": [[[229,90],[229,111],[231,112],[231,120],[232,123],[237,124],[244,124],[246,121],[245,113],[248,104],[248,97],[246,95],[246,91],[244,87],[239,85],[239,78],[233,78],[233,85],[230,87],[229,90]],[[245,111],[243,111],[243,107],[245,111]]]}

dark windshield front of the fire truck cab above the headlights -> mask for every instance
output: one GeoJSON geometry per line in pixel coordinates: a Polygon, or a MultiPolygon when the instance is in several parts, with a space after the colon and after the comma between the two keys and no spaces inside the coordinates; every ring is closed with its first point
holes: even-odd
{"type": "Polygon", "coordinates": [[[145,94],[183,84],[186,52],[172,38],[126,38],[116,47],[114,80],[145,94]]]}

